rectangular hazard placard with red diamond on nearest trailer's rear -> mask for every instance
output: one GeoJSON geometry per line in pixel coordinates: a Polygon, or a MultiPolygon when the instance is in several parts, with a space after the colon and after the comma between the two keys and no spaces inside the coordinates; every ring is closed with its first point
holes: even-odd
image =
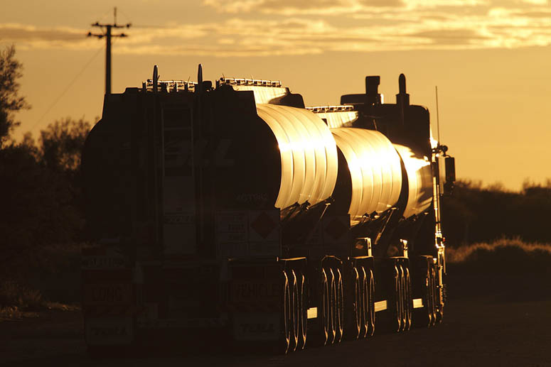
{"type": "Polygon", "coordinates": [[[280,256],[279,210],[218,212],[218,258],[280,256]]]}

